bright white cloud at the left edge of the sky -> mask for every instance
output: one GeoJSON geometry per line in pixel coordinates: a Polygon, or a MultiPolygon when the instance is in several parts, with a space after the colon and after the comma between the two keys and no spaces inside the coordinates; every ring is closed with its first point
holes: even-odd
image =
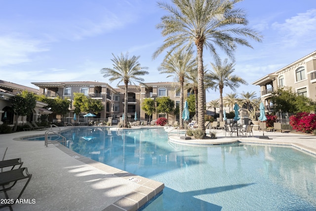
{"type": "Polygon", "coordinates": [[[31,55],[48,51],[38,40],[0,37],[0,67],[31,62],[31,55]]]}

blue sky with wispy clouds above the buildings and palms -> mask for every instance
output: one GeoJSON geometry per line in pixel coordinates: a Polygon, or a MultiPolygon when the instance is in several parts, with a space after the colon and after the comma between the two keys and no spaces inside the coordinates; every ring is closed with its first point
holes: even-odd
{"type": "MultiPolygon", "coordinates": [[[[34,88],[32,82],[109,83],[100,70],[112,67],[112,53],[129,52],[149,68],[146,82],[173,81],[157,70],[162,55],[152,59],[164,40],[156,25],[165,11],[156,0],[0,0],[0,5],[0,80],[34,88]]],[[[244,0],[237,6],[246,11],[248,27],[264,37],[251,41],[253,49],[237,48],[235,74],[249,84],[237,93],[256,91],[259,97],[252,82],[316,50],[316,0],[244,0]]],[[[209,68],[211,58],[204,51],[209,68]]],[[[224,88],[224,95],[229,92],[224,88]]],[[[218,97],[218,90],[206,92],[207,101],[218,97]]]]}

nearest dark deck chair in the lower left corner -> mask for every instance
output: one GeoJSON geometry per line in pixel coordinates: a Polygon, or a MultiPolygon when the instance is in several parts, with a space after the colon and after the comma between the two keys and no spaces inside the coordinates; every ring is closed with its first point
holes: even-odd
{"type": "MultiPolygon", "coordinates": [[[[32,178],[32,174],[28,172],[28,169],[26,167],[20,168],[20,169],[14,169],[14,170],[8,170],[4,172],[0,172],[0,192],[4,192],[6,199],[13,199],[12,197],[9,197],[7,194],[7,191],[11,190],[13,186],[22,179],[27,179],[24,187],[22,188],[19,196],[14,199],[14,203],[21,198],[25,188],[29,184],[30,180],[32,178]]],[[[12,210],[11,206],[13,204],[5,203],[3,205],[0,205],[0,209],[3,207],[10,207],[10,210],[12,210]]]]}

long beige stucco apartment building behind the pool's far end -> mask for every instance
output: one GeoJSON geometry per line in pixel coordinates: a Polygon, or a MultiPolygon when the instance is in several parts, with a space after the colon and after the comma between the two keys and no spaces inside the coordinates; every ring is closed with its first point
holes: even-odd
{"type": "MultiPolygon", "coordinates": [[[[71,101],[70,113],[68,118],[74,117],[73,98],[75,92],[80,92],[92,99],[101,100],[104,109],[97,114],[96,119],[119,118],[124,111],[124,85],[119,85],[118,88],[113,88],[107,83],[101,82],[40,82],[32,83],[40,88],[39,94],[44,94],[47,97],[68,98],[71,101]]],[[[180,103],[180,92],[177,91],[179,84],[172,82],[145,83],[140,85],[128,85],[128,118],[132,121],[137,113],[139,120],[148,120],[149,116],[142,111],[141,105],[144,98],[153,98],[160,96],[169,96],[176,104],[180,103]]],[[[185,90],[185,97],[188,91],[185,90]]],[[[79,119],[83,119],[84,114],[79,114],[79,119]]],[[[153,120],[158,117],[164,117],[164,114],[154,114],[153,120]]],[[[55,117],[57,120],[60,117],[55,117]]],[[[67,117],[66,117],[67,118],[67,117]]],[[[175,120],[173,114],[168,115],[169,120],[175,120]]],[[[67,121],[63,119],[63,121],[67,121]]]]}

